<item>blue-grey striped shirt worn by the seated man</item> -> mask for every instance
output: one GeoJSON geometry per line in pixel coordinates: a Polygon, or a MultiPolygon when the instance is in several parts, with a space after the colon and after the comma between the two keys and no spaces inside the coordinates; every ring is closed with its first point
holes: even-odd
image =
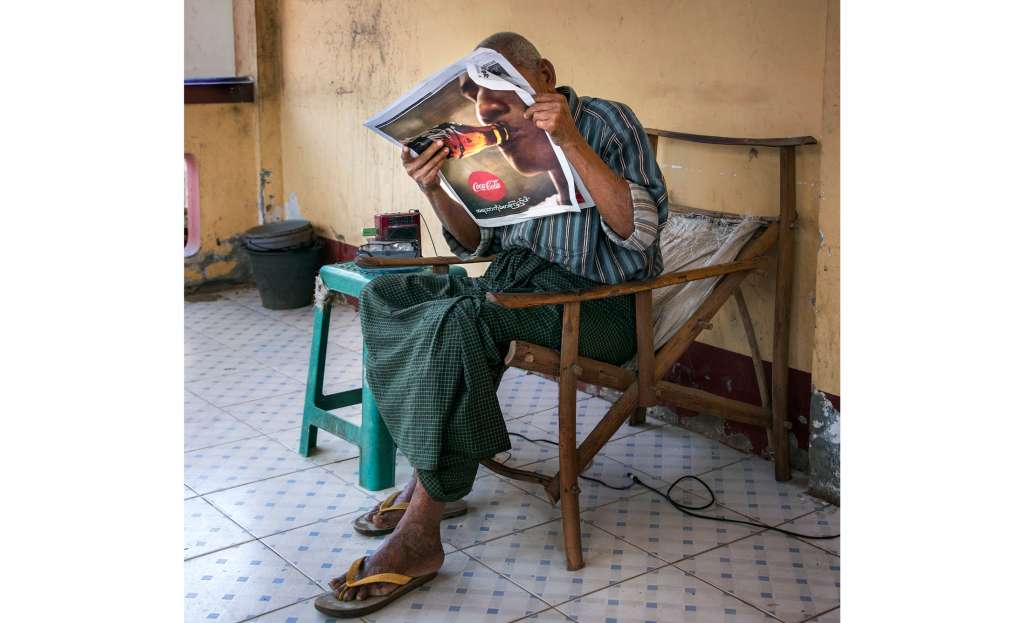
{"type": "Polygon", "coordinates": [[[633,233],[629,238],[620,237],[595,207],[480,227],[480,244],[473,251],[444,231],[449,247],[462,259],[525,248],[575,275],[605,284],[658,275],[663,267],[659,237],[669,216],[669,196],[643,126],[626,105],[580,97],[567,86],[557,90],[568,99],[577,129],[591,149],[629,181],[633,233]]]}

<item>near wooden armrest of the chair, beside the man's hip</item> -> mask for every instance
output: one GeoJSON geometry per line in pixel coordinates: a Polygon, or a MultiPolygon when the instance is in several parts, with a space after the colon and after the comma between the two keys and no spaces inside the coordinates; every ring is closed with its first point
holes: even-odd
{"type": "Polygon", "coordinates": [[[487,300],[498,303],[510,309],[521,307],[539,307],[541,305],[556,305],[573,301],[594,300],[597,298],[609,298],[611,296],[622,296],[624,294],[636,294],[644,290],[654,290],[666,286],[674,286],[690,281],[698,281],[712,277],[720,277],[730,273],[743,273],[754,271],[767,265],[767,256],[752,257],[750,259],[737,259],[723,264],[693,268],[692,271],[678,271],[676,273],[666,273],[654,279],[643,281],[630,281],[611,286],[598,286],[588,290],[577,290],[570,292],[488,292],[487,300]]]}

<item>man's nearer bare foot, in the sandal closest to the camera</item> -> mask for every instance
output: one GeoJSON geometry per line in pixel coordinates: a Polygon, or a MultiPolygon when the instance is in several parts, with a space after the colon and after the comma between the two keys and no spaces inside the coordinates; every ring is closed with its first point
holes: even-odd
{"type": "MultiPolygon", "coordinates": [[[[409,509],[388,540],[362,564],[356,578],[378,573],[400,573],[418,577],[436,572],[444,563],[440,540],[440,515],[443,502],[431,500],[422,487],[416,487],[409,509]]],[[[390,513],[385,513],[390,514],[390,513]]],[[[342,591],[340,599],[351,601],[386,595],[397,585],[369,584],[343,590],[345,577],[331,580],[331,589],[342,591]]]]}

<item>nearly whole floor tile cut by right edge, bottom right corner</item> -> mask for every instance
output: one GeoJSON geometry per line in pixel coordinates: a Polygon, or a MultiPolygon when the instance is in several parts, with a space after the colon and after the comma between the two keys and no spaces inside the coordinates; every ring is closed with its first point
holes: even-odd
{"type": "Polygon", "coordinates": [[[787,622],[839,606],[839,557],[778,533],[756,534],[677,567],[787,622]]]}

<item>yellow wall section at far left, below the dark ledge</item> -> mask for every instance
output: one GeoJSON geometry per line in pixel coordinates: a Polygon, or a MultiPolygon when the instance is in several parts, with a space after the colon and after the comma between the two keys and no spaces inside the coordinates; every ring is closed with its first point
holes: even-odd
{"type": "Polygon", "coordinates": [[[244,277],[238,237],[257,224],[256,117],[252,103],[185,106],[184,151],[199,170],[199,252],[185,258],[185,285],[244,277]]]}

